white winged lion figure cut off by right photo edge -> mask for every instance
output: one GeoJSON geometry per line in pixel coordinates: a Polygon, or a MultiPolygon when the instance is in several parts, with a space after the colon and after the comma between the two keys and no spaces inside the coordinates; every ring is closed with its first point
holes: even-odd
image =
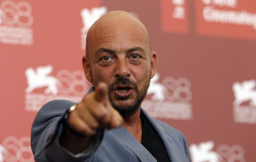
{"type": "Polygon", "coordinates": [[[234,106],[239,106],[242,102],[251,101],[250,105],[256,105],[256,81],[254,79],[246,80],[242,83],[235,82],[232,86],[235,101],[234,106]]]}

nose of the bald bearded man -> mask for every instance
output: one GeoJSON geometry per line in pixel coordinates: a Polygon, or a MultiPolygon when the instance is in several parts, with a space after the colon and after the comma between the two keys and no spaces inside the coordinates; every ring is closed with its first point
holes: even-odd
{"type": "Polygon", "coordinates": [[[125,58],[123,59],[118,59],[115,65],[115,73],[114,76],[117,78],[128,78],[131,76],[129,67],[128,67],[128,62],[125,58]]]}

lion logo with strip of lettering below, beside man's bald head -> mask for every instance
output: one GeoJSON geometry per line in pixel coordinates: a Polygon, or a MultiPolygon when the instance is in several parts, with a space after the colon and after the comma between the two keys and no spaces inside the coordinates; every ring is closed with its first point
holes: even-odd
{"type": "Polygon", "coordinates": [[[81,29],[81,48],[85,50],[86,45],[86,36],[88,30],[90,29],[91,25],[104,14],[106,14],[107,8],[105,6],[102,7],[94,7],[91,10],[88,8],[84,8],[81,11],[81,17],[83,21],[83,28],[81,29]]]}

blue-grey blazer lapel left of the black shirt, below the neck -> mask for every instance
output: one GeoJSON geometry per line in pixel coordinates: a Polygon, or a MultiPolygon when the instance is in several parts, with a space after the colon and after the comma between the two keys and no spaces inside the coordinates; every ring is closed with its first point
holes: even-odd
{"type": "Polygon", "coordinates": [[[157,160],[150,154],[147,149],[138,142],[136,138],[129,133],[129,131],[121,126],[117,129],[111,129],[111,132],[116,136],[121,143],[123,143],[129,150],[131,150],[142,162],[156,162],[157,160]]]}

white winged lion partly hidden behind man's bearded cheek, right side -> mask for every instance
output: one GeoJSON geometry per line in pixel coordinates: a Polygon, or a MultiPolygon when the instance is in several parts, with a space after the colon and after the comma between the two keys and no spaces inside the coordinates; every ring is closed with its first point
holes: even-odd
{"type": "Polygon", "coordinates": [[[150,81],[149,90],[147,91],[147,94],[153,94],[151,99],[153,101],[164,101],[165,100],[165,93],[167,91],[166,87],[163,86],[160,83],[157,83],[159,80],[159,74],[155,73],[155,76],[150,81]]]}

